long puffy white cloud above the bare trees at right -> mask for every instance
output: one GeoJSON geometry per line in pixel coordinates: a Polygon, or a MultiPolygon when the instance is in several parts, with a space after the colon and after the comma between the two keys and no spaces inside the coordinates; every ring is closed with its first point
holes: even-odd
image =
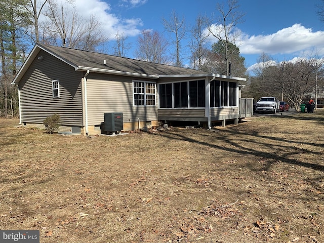
{"type": "Polygon", "coordinates": [[[278,30],[268,35],[242,34],[238,42],[241,54],[293,54],[314,48],[324,49],[324,31],[313,32],[301,24],[278,30]]]}

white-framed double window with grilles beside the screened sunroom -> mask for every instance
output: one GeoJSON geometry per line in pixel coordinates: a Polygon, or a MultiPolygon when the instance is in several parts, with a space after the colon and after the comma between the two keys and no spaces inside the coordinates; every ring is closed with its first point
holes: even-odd
{"type": "Polygon", "coordinates": [[[133,81],[134,105],[155,106],[155,83],[133,81]]]}

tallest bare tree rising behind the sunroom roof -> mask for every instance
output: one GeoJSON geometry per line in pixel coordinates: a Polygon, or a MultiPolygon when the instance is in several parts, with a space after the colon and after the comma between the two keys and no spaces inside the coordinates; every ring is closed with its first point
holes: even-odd
{"type": "Polygon", "coordinates": [[[218,18],[210,18],[207,22],[207,28],[210,33],[218,39],[225,49],[226,75],[229,75],[229,43],[235,44],[235,39],[239,33],[235,27],[237,24],[244,22],[245,14],[238,11],[239,5],[237,0],[226,0],[226,6],[223,3],[217,4],[218,18]],[[215,24],[216,22],[216,24],[215,24]]]}

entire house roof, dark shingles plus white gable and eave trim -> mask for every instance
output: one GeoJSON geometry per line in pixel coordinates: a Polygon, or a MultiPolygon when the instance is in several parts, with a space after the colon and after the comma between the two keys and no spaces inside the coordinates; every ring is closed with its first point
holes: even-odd
{"type": "Polygon", "coordinates": [[[75,68],[76,71],[91,71],[101,73],[112,73],[116,75],[145,76],[148,78],[159,77],[217,77],[246,81],[246,78],[230,77],[220,74],[203,72],[190,68],[175,67],[165,64],[145,62],[125,57],[117,57],[107,54],[95,53],[90,51],[77,50],[66,47],[54,47],[36,44],[27,60],[19,69],[12,84],[17,85],[24,73],[28,70],[32,61],[37,58],[41,50],[57,57],[75,68]],[[106,64],[104,64],[106,60],[106,64]]]}

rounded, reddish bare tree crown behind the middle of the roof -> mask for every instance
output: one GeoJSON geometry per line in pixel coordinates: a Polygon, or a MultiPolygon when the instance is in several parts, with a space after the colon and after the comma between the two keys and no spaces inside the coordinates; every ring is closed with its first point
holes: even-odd
{"type": "Polygon", "coordinates": [[[143,30],[137,38],[136,58],[154,63],[169,63],[168,42],[157,31],[143,30]]]}

